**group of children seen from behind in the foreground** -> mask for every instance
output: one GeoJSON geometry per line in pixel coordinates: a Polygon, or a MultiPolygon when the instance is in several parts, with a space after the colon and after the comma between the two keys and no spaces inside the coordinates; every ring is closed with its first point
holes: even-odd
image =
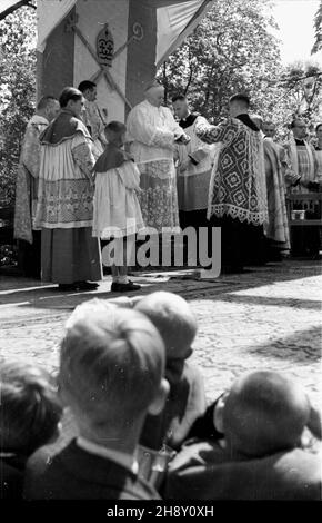
{"type": "Polygon", "coordinates": [[[91,299],[59,369],[3,361],[7,500],[320,500],[321,413],[288,375],[237,376],[207,404],[178,295],[91,299]]]}

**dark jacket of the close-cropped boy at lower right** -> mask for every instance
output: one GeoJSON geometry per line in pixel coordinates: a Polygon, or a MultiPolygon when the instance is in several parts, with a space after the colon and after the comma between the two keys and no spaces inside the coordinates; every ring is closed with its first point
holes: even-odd
{"type": "Polygon", "coordinates": [[[302,448],[233,462],[217,442],[187,443],[170,463],[172,500],[321,501],[321,454],[302,448]]]}

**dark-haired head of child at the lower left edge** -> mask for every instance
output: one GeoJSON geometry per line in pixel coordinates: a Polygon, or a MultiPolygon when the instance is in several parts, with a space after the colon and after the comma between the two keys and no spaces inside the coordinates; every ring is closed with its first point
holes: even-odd
{"type": "Polygon", "coordinates": [[[3,362],[0,391],[1,451],[28,456],[57,433],[62,407],[56,381],[28,362],[3,362]]]}

